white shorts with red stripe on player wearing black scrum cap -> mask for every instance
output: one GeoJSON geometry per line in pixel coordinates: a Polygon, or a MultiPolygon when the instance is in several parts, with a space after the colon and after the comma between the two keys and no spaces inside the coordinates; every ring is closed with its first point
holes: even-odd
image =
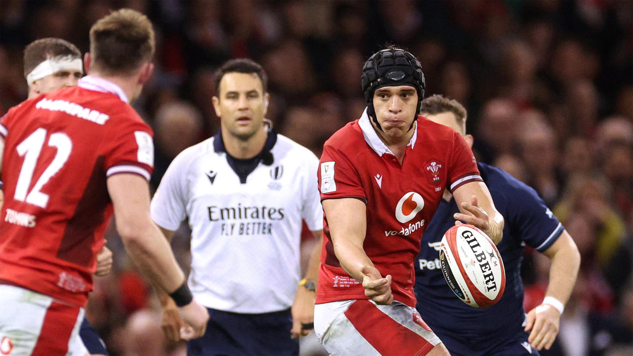
{"type": "Polygon", "coordinates": [[[415,308],[396,301],[316,304],[315,333],[333,356],[425,355],[441,343],[415,308]]]}

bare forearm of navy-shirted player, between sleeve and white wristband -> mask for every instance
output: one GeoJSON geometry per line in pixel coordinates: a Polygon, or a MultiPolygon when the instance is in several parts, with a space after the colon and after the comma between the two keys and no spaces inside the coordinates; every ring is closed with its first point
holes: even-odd
{"type": "MultiPolygon", "coordinates": [[[[565,234],[567,234],[565,232],[565,234]]],[[[561,236],[563,237],[563,236],[561,236]]],[[[572,294],[573,285],[580,267],[580,253],[575,244],[565,245],[551,256],[549,267],[549,285],[546,297],[554,297],[563,305],[567,304],[572,294]]]]}

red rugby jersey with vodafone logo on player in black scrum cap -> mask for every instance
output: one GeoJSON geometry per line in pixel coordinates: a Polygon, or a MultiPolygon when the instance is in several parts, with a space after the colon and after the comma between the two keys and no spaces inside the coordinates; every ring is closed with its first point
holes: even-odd
{"type": "MultiPolygon", "coordinates": [[[[415,307],[413,261],[422,233],[445,187],[451,192],[482,181],[475,157],[451,128],[418,116],[402,165],[380,140],[367,116],[341,128],[325,142],[318,170],[321,199],[354,197],[367,204],[363,247],[382,276],[391,274],[394,300],[415,307]]],[[[316,304],[367,299],[334,255],[327,218],[316,304]]]]}

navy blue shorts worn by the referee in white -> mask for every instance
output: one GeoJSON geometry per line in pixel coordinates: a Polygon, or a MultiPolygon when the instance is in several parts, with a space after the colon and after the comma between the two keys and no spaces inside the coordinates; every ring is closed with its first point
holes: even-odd
{"type": "Polygon", "coordinates": [[[206,333],[187,342],[188,355],[299,355],[299,340],[290,336],[290,309],[265,314],[207,309],[206,333]]]}

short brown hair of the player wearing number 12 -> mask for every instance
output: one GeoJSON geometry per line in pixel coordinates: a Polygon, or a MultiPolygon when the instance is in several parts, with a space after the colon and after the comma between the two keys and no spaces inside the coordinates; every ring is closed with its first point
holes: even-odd
{"type": "Polygon", "coordinates": [[[147,16],[120,9],[90,28],[93,65],[106,75],[129,74],[154,56],[154,29],[147,16]]]}

